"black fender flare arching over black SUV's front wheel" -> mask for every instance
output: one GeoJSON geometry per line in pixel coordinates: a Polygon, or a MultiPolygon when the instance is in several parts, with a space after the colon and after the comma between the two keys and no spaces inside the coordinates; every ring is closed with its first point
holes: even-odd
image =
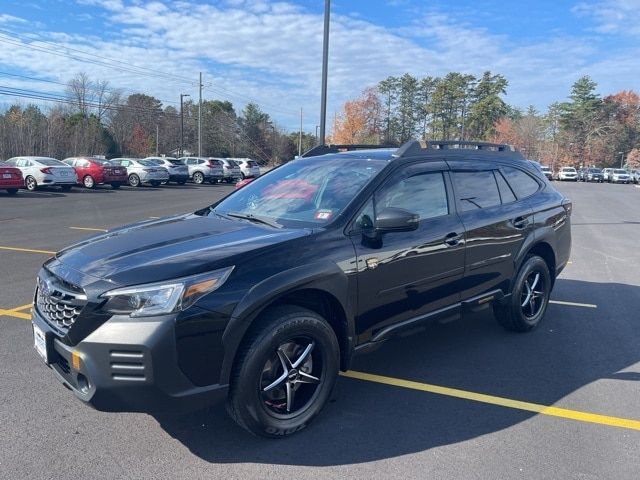
{"type": "Polygon", "coordinates": [[[303,289],[322,291],[340,303],[347,321],[349,351],[353,350],[355,327],[346,274],[331,261],[300,265],[257,283],[238,302],[222,335],[224,359],[220,383],[228,383],[240,342],[256,318],[279,298],[303,289]]]}

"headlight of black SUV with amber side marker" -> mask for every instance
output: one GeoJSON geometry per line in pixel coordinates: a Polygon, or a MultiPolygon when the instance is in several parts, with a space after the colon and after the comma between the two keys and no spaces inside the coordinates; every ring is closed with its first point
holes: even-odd
{"type": "Polygon", "coordinates": [[[110,290],[100,295],[107,299],[102,310],[132,317],[186,310],[198,299],[220,288],[232,271],[233,267],[228,267],[192,277],[110,290]]]}

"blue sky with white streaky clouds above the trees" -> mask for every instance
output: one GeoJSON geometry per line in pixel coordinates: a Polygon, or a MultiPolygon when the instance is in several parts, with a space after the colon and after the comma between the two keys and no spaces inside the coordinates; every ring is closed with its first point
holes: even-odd
{"type": "MultiPolygon", "coordinates": [[[[2,0],[0,88],[64,94],[79,72],[178,105],[253,101],[283,128],[320,116],[322,0],[2,0]],[[26,78],[29,77],[29,78],[26,78]],[[36,80],[37,79],[37,80],[36,80]]],[[[333,0],[328,112],[389,75],[509,81],[544,111],[582,75],[601,95],[640,90],[640,0],[333,0]]],[[[5,90],[6,91],[6,90],[5,90]]],[[[11,103],[0,94],[0,104],[11,103]]],[[[25,100],[22,100],[24,103],[25,100]]]]}

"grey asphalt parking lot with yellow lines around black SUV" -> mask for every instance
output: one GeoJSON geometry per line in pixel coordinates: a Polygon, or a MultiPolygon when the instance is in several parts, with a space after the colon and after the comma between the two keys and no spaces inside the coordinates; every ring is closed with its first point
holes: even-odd
{"type": "Polygon", "coordinates": [[[232,187],[0,193],[0,478],[640,478],[640,188],[556,185],[574,203],[572,261],[537,330],[482,312],[389,341],[312,426],[275,441],[223,408],[96,412],[32,347],[49,252],[232,187]]]}

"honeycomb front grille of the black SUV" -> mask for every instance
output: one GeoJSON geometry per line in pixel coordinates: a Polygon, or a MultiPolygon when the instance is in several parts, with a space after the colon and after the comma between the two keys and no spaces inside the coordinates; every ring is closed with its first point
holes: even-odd
{"type": "Polygon", "coordinates": [[[78,287],[53,275],[38,276],[36,305],[44,319],[58,330],[66,331],[87,303],[78,287]]]}

